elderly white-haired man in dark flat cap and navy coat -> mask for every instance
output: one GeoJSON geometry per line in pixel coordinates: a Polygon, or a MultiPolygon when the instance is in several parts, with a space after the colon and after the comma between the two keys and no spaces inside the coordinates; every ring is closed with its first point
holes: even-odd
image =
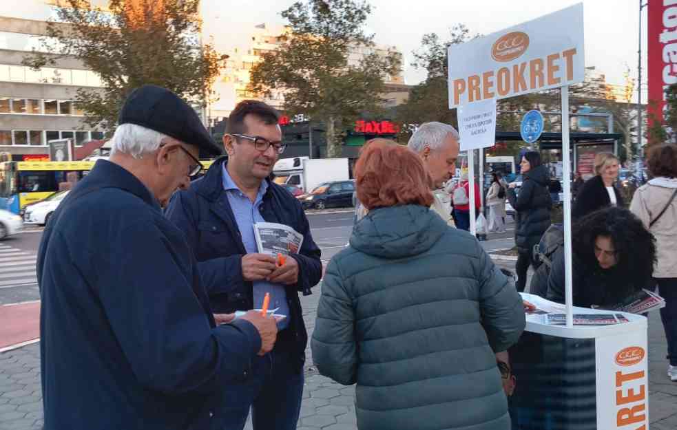
{"type": "Polygon", "coordinates": [[[45,429],[223,429],[277,327],[216,325],[183,233],[160,209],[218,153],[195,111],[147,85],[127,98],[110,161],[50,218],[39,249],[45,429]]]}

